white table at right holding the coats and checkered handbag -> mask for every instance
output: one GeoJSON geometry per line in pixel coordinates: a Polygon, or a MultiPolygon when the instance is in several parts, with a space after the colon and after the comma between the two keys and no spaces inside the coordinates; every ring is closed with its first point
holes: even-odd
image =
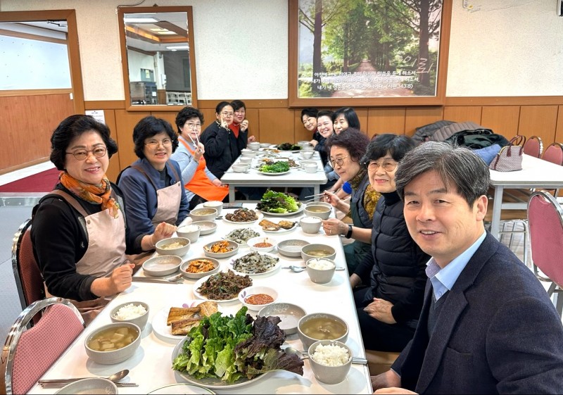
{"type": "Polygon", "coordinates": [[[563,188],[563,166],[545,161],[541,158],[522,156],[522,169],[510,172],[489,170],[493,195],[493,212],[491,218],[491,234],[499,238],[500,213],[502,210],[526,210],[527,201],[502,201],[505,189],[563,188]]]}

